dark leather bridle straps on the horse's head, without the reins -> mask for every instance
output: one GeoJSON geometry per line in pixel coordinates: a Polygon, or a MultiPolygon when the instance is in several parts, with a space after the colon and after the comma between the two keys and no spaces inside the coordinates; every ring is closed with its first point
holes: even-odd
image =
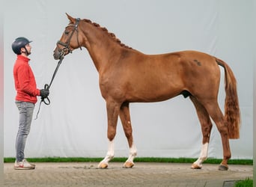
{"type": "MultiPolygon", "coordinates": [[[[58,40],[57,44],[61,45],[61,46],[64,46],[63,49],[59,49],[59,52],[61,52],[61,56],[64,55],[65,52],[67,53],[72,53],[72,50],[70,49],[70,40],[71,38],[73,37],[73,34],[74,32],[76,31],[76,39],[77,39],[77,43],[79,44],[79,40],[78,40],[78,25],[79,25],[79,21],[80,21],[80,18],[76,18],[76,24],[73,25],[73,24],[70,24],[70,25],[67,25],[68,26],[74,26],[74,29],[72,31],[72,33],[70,34],[70,37],[69,39],[67,40],[67,43],[64,43],[64,42],[61,42],[60,40],[58,40]]],[[[79,44],[79,48],[82,50],[82,47],[80,46],[79,44]]]]}

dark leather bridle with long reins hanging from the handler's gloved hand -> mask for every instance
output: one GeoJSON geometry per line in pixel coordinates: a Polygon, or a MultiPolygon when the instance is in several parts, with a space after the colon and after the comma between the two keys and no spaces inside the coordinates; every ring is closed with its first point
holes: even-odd
{"type": "MultiPolygon", "coordinates": [[[[79,25],[79,21],[80,21],[80,18],[77,18],[75,25],[73,25],[73,24],[67,25],[67,27],[69,27],[69,26],[73,26],[74,27],[72,33],[70,34],[70,37],[67,40],[67,43],[61,42],[60,40],[58,40],[58,42],[57,42],[57,47],[58,47],[58,45],[61,45],[61,46],[64,46],[64,48],[63,49],[58,48],[58,52],[60,52],[60,54],[58,56],[58,59],[59,59],[58,65],[55,68],[55,71],[54,71],[54,73],[52,75],[52,79],[51,79],[51,82],[49,83],[49,85],[48,84],[44,85],[44,89],[47,90],[47,91],[49,91],[49,88],[52,85],[53,79],[55,78],[55,75],[56,75],[56,73],[58,71],[58,68],[60,67],[61,62],[64,59],[64,55],[67,55],[68,53],[72,53],[72,50],[70,49],[70,40],[73,37],[73,34],[74,34],[75,31],[76,31],[77,43],[79,44],[78,29],[77,29],[78,25],[79,25]]],[[[79,48],[82,50],[82,47],[80,46],[80,44],[79,44],[79,48]]],[[[50,104],[50,100],[49,100],[48,96],[41,97],[40,105],[39,105],[39,108],[38,108],[38,111],[37,111],[37,117],[38,117],[38,114],[39,114],[39,111],[40,111],[40,106],[41,106],[42,102],[44,102],[44,104],[46,104],[46,105],[49,105],[50,104]]],[[[37,117],[35,118],[35,120],[37,119],[37,117]]]]}

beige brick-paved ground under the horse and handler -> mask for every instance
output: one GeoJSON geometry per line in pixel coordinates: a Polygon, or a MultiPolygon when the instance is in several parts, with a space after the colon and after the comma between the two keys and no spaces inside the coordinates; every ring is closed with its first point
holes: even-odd
{"type": "Polygon", "coordinates": [[[4,186],[207,186],[231,187],[235,180],[252,178],[252,165],[229,165],[218,171],[218,165],[204,164],[201,170],[189,164],[135,163],[122,168],[121,162],[110,162],[108,169],[97,169],[95,162],[36,163],[32,171],[16,171],[12,163],[4,164],[4,186]]]}

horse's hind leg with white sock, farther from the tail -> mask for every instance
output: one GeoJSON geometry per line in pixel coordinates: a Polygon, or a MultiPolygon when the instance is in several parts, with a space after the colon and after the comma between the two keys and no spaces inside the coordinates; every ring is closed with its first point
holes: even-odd
{"type": "Polygon", "coordinates": [[[198,119],[201,123],[201,131],[203,134],[203,144],[201,147],[201,153],[197,161],[195,161],[191,168],[192,169],[201,169],[202,163],[204,160],[207,159],[207,153],[208,153],[208,146],[210,141],[210,132],[212,129],[213,124],[210,121],[209,114],[207,110],[204,108],[203,105],[201,105],[200,102],[198,102],[198,99],[196,99],[194,96],[190,96],[190,99],[195,105],[196,112],[198,114],[198,119]]]}

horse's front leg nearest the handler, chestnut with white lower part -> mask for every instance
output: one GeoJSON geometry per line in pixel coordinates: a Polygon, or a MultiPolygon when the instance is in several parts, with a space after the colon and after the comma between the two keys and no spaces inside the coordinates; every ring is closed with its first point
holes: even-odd
{"type": "Polygon", "coordinates": [[[100,162],[98,168],[108,168],[109,161],[114,158],[114,138],[118,123],[120,105],[116,102],[106,102],[108,116],[108,139],[109,146],[105,158],[100,162]]]}

